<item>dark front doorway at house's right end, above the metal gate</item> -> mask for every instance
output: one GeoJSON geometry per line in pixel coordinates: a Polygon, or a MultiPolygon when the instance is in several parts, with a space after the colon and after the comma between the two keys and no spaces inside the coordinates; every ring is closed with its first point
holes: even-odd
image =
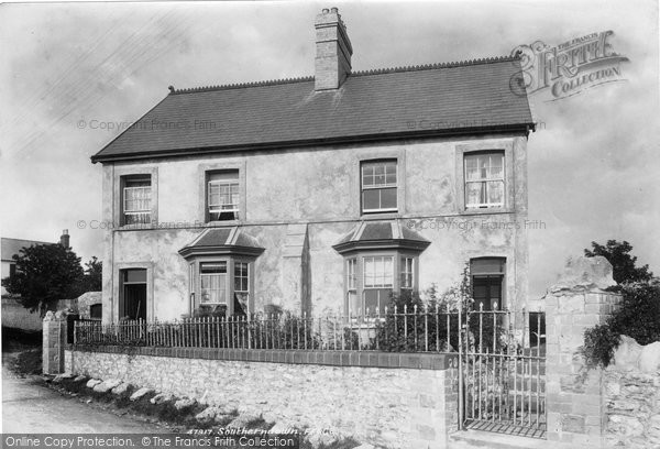
{"type": "Polygon", "coordinates": [[[502,310],[504,302],[505,258],[480,258],[470,261],[474,308],[502,310]]]}

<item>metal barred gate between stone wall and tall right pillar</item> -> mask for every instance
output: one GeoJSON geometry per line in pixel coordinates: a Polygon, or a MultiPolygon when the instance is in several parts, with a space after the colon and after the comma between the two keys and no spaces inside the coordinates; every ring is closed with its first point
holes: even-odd
{"type": "Polygon", "coordinates": [[[482,307],[464,317],[459,427],[546,438],[543,315],[482,307]]]}

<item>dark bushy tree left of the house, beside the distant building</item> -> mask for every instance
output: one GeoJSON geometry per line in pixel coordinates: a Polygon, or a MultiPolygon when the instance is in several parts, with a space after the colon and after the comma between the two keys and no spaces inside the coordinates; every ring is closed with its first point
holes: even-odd
{"type": "Polygon", "coordinates": [[[43,317],[53,310],[58,299],[80,295],[84,278],[80,258],[61,244],[35,244],[21,249],[12,258],[16,264],[13,276],[2,280],[2,286],[31,313],[43,317]]]}

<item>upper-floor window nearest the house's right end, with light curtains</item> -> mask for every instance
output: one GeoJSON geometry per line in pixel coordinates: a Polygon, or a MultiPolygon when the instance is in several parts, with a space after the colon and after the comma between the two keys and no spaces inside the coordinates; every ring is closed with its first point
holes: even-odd
{"type": "Polygon", "coordinates": [[[465,154],[465,207],[504,207],[504,152],[465,154]]]}

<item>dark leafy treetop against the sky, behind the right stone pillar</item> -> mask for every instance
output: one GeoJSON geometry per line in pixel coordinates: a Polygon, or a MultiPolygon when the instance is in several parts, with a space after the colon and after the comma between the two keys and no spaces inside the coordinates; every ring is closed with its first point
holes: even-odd
{"type": "Polygon", "coordinates": [[[627,241],[618,242],[616,240],[607,240],[607,244],[602,245],[592,242],[592,250],[584,250],[584,255],[594,258],[602,255],[614,269],[613,277],[617,284],[629,282],[650,282],[653,278],[653,273],[649,271],[649,265],[635,266],[637,258],[630,255],[632,247],[627,241]]]}

